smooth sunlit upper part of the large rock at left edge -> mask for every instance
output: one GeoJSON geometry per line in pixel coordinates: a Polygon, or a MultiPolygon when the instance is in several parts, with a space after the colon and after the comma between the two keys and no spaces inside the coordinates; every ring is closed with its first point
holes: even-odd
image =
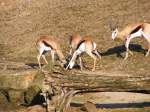
{"type": "Polygon", "coordinates": [[[1,74],[0,89],[25,90],[31,85],[36,75],[37,70],[27,70],[14,74],[1,74]]]}

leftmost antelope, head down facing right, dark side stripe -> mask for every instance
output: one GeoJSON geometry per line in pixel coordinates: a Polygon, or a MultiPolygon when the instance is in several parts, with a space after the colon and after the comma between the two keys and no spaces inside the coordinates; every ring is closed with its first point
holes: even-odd
{"type": "Polygon", "coordinates": [[[45,54],[50,51],[52,57],[52,63],[54,63],[55,54],[57,54],[61,64],[65,64],[65,57],[60,49],[60,45],[52,36],[41,36],[36,42],[39,54],[37,55],[37,60],[39,68],[41,69],[41,56],[44,59],[45,63],[48,64],[48,61],[45,58],[45,54]]]}

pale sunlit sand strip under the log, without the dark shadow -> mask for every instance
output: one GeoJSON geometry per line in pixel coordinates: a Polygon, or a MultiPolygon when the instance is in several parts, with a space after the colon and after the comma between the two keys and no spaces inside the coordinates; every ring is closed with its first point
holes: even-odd
{"type": "Polygon", "coordinates": [[[78,98],[81,98],[82,102],[88,100],[96,104],[150,102],[149,94],[129,92],[85,93],[75,96],[74,100],[77,101],[78,98]]]}

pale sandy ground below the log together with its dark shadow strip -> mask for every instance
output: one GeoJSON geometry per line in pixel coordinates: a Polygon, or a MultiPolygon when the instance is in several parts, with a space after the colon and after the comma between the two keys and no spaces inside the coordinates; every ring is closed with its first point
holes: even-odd
{"type": "Polygon", "coordinates": [[[77,95],[73,98],[72,106],[78,107],[87,101],[94,103],[97,109],[130,109],[134,112],[134,109],[150,107],[150,95],[128,92],[102,92],[77,95]]]}

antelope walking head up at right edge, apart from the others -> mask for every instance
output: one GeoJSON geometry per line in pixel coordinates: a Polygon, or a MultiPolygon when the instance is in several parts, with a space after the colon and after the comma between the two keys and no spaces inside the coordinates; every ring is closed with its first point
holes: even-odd
{"type": "Polygon", "coordinates": [[[130,41],[136,37],[144,37],[148,42],[148,51],[146,57],[150,52],[150,24],[149,23],[136,23],[126,26],[122,31],[118,31],[118,28],[112,31],[112,39],[121,39],[125,41],[126,54],[124,60],[128,58],[129,53],[133,53],[129,50],[130,41]]]}

